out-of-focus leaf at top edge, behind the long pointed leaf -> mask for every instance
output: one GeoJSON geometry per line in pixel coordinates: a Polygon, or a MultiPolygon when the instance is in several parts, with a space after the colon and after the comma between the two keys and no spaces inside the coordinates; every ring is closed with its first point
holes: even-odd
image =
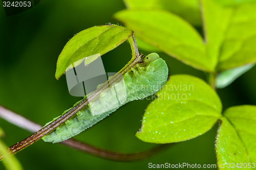
{"type": "Polygon", "coordinates": [[[164,9],[179,15],[194,26],[201,26],[198,0],[124,0],[128,9],[164,9]]]}

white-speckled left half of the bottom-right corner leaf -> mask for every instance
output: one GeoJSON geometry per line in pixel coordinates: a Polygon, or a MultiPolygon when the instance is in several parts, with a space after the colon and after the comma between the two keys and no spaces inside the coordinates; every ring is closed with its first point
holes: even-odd
{"type": "Polygon", "coordinates": [[[244,144],[236,130],[225,117],[222,118],[218,130],[215,147],[219,169],[238,169],[236,167],[231,168],[231,163],[234,163],[234,166],[237,163],[247,163],[248,165],[249,158],[244,144]]]}

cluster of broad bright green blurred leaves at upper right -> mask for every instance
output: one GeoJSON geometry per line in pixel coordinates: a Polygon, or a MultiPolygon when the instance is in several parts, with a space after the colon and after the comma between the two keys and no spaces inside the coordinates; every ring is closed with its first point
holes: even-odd
{"type": "MultiPolygon", "coordinates": [[[[175,2],[168,4],[176,6],[175,2]]],[[[115,18],[145,42],[207,72],[255,63],[256,3],[224,8],[214,0],[199,2],[203,37],[186,20],[165,8],[131,8],[116,13],[115,18]]]]}

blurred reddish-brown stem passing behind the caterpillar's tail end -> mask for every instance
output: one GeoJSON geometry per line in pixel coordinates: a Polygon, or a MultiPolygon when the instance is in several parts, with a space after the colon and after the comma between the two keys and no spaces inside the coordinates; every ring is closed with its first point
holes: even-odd
{"type": "MultiPolygon", "coordinates": [[[[41,128],[40,125],[2,106],[0,106],[0,117],[7,120],[9,123],[13,125],[16,125],[20,128],[28,130],[29,132],[36,132],[41,128]]],[[[73,149],[76,149],[100,158],[110,159],[115,161],[136,161],[140,159],[145,159],[147,157],[150,157],[162,151],[166,147],[170,146],[170,144],[161,144],[147,151],[124,154],[124,153],[117,153],[117,152],[111,152],[111,151],[99,149],[88,143],[84,143],[74,139],[68,139],[68,140],[62,141],[60,142],[60,144],[66,145],[67,147],[70,147],[70,148],[73,148],[73,149]]],[[[0,160],[1,160],[1,157],[0,157],[0,160]]]]}

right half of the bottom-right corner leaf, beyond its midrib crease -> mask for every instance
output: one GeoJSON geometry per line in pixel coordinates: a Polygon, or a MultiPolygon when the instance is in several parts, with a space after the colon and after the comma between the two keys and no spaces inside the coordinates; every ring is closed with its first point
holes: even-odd
{"type": "Polygon", "coordinates": [[[256,163],[256,106],[231,107],[224,116],[236,130],[250,162],[256,163]]]}

